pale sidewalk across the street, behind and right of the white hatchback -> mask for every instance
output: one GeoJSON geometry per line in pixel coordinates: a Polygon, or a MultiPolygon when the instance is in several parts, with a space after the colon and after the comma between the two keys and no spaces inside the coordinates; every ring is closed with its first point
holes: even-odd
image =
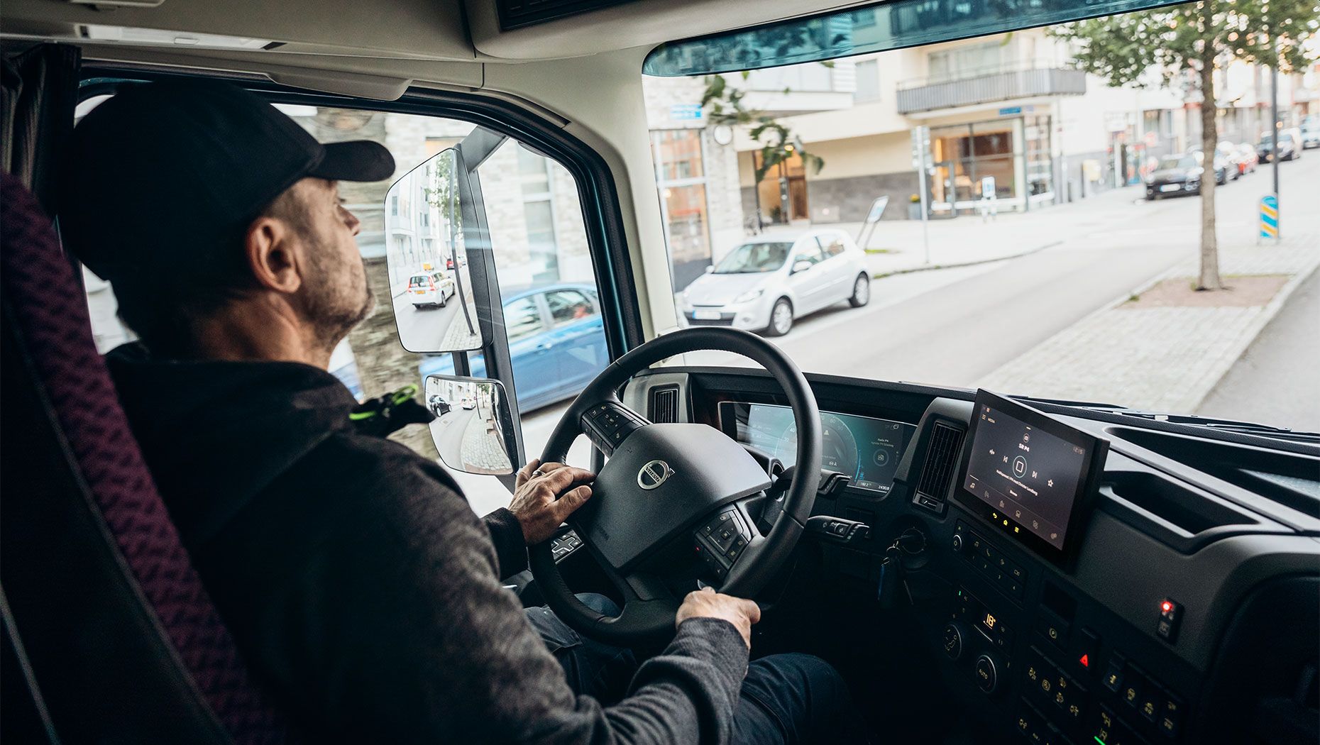
{"type": "MultiPolygon", "coordinates": [[[[871,276],[921,272],[965,266],[986,261],[999,261],[1034,253],[1057,245],[1061,236],[1078,231],[1105,229],[1131,220],[1133,200],[1142,198],[1140,189],[1111,189],[1069,204],[1032,210],[1031,212],[1001,214],[990,220],[979,215],[960,215],[953,219],[929,220],[929,261],[927,261],[921,220],[883,220],[875,225],[866,245],[871,276]]],[[[821,224],[838,228],[853,237],[862,229],[861,223],[821,224]]],[[[775,232],[800,232],[800,228],[775,225],[775,232]]]]}

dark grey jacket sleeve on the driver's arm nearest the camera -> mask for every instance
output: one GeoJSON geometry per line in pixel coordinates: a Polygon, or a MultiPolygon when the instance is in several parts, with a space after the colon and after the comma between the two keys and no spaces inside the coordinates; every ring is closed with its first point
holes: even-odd
{"type": "Polygon", "coordinates": [[[286,593],[293,607],[277,613],[294,622],[284,633],[301,645],[284,666],[292,672],[281,692],[297,696],[310,721],[325,723],[326,737],[729,741],[747,670],[747,647],[731,624],[685,621],[618,705],[574,695],[500,585],[488,523],[430,468],[438,467],[404,451],[368,481],[341,473],[341,484],[370,496],[351,509],[345,534],[313,558],[318,568],[302,572],[304,585],[286,593]]]}

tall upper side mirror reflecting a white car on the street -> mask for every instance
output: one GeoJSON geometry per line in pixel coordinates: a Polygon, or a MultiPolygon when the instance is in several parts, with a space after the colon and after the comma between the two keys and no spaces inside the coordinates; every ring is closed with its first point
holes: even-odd
{"type": "Polygon", "coordinates": [[[463,245],[457,153],[432,156],[385,194],[385,260],[399,340],[409,352],[480,349],[463,245]]]}

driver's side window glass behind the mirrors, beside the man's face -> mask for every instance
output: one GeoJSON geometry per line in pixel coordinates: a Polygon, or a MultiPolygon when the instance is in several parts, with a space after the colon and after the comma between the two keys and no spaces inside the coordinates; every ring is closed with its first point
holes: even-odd
{"type": "MultiPolygon", "coordinates": [[[[108,98],[87,99],[79,104],[75,116],[84,116],[108,98]]],[[[322,142],[374,140],[385,145],[395,157],[395,174],[388,179],[339,183],[345,208],[362,220],[358,247],[367,281],[383,302],[378,302],[375,313],[335,349],[330,372],[359,400],[405,385],[421,386],[426,374],[453,374],[451,355],[416,355],[403,348],[389,302],[396,294],[408,291],[414,278],[429,285],[434,277],[437,291],[450,291],[447,282],[454,268],[437,256],[438,244],[426,235],[400,227],[413,224],[409,216],[414,212],[428,215],[418,220],[422,227],[433,227],[436,220],[429,212],[441,212],[424,199],[395,196],[387,202],[385,196],[396,179],[436,153],[462,144],[477,127],[444,116],[306,104],[273,105],[322,142]],[[407,258],[400,266],[391,268],[385,261],[387,245],[396,256],[407,258]]],[[[565,290],[562,302],[556,301],[560,315],[578,313],[576,309],[583,295],[591,298],[597,291],[578,185],[562,165],[523,148],[512,138],[486,158],[478,177],[500,293],[506,301],[521,297],[504,307],[506,332],[511,342],[535,339],[549,330],[541,318],[537,299],[541,295],[524,294],[527,290],[565,290]]],[[[90,273],[86,287],[98,349],[106,352],[132,340],[132,332],[115,315],[117,303],[112,287],[90,273]]],[[[433,319],[459,313],[458,306],[450,298],[446,307],[426,307],[409,323],[438,323],[433,319]]],[[[595,313],[598,303],[589,301],[589,307],[595,313]]],[[[512,360],[516,405],[521,414],[525,450],[529,456],[537,456],[568,402],[610,360],[602,324],[570,342],[546,345],[540,352],[533,348],[539,347],[536,344],[521,347],[529,352],[515,355],[512,360]]],[[[470,361],[475,376],[486,374],[479,353],[473,355],[470,361]]],[[[391,436],[426,458],[436,458],[426,427],[405,427],[391,436]]],[[[579,446],[570,451],[569,459],[577,465],[590,464],[590,450],[585,443],[581,439],[579,446]]],[[[478,514],[508,504],[510,493],[495,477],[451,473],[478,514]]]]}

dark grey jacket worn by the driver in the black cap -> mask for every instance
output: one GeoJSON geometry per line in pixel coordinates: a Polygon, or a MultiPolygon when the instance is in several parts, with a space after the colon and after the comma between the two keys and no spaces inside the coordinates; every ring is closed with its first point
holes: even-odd
{"type": "Polygon", "coordinates": [[[508,510],[473,514],[442,468],[348,422],[294,363],[110,355],[133,432],[259,678],[314,741],[725,742],[747,667],[726,621],[685,621],[620,704],[576,696],[500,578],[508,510]]]}

